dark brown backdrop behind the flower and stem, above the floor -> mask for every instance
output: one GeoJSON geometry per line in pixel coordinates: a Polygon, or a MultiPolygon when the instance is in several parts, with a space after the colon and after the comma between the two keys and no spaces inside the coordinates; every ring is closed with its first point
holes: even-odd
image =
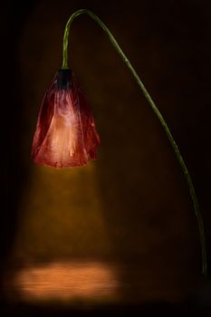
{"type": "MultiPolygon", "coordinates": [[[[62,64],[63,29],[78,8],[109,26],[167,120],[196,187],[210,263],[209,1],[9,1],[1,13],[3,272],[15,261],[63,256],[136,264],[139,276],[120,277],[131,285],[125,297],[192,307],[204,283],[187,185],[136,82],[85,15],[72,25],[70,60],[101,135],[99,159],[58,173],[30,159],[43,93],[62,64]]],[[[210,295],[201,296],[207,312],[210,295]]]]}

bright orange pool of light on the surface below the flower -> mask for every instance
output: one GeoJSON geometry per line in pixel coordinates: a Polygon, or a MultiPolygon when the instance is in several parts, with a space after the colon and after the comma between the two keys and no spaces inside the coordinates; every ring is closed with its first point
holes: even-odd
{"type": "Polygon", "coordinates": [[[99,262],[53,262],[28,266],[14,276],[14,289],[26,301],[104,302],[117,299],[113,267],[99,262]]]}

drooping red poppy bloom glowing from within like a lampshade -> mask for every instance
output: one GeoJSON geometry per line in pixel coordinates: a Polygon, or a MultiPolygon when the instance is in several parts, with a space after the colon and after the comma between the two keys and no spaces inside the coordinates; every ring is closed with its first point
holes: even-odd
{"type": "Polygon", "coordinates": [[[91,110],[71,70],[56,73],[34,133],[34,162],[54,168],[86,165],[100,144],[91,110]]]}

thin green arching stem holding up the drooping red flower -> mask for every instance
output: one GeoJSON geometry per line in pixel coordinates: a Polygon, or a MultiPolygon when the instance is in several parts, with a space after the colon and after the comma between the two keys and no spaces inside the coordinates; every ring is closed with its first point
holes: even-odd
{"type": "Polygon", "coordinates": [[[138,73],[134,70],[134,68],[130,64],[129,59],[127,58],[125,53],[123,53],[121,51],[120,45],[115,40],[114,36],[110,33],[110,30],[107,28],[107,26],[105,24],[103,24],[101,19],[96,14],[93,14],[90,10],[81,9],[81,10],[74,12],[66,24],[64,35],[63,35],[62,69],[68,69],[68,38],[69,38],[70,26],[71,26],[73,20],[80,14],[88,14],[95,22],[97,22],[97,24],[99,24],[101,26],[101,29],[108,36],[110,43],[114,46],[115,50],[120,54],[122,61],[128,66],[129,71],[131,72],[131,74],[135,78],[136,82],[138,83],[138,85],[139,85],[141,91],[143,92],[144,96],[146,97],[147,101],[149,101],[150,107],[155,112],[156,116],[158,117],[159,122],[161,123],[161,125],[163,126],[163,128],[166,132],[168,140],[170,141],[170,144],[172,145],[172,148],[174,149],[174,152],[176,154],[177,161],[178,161],[180,167],[182,168],[182,171],[183,171],[184,176],[186,178],[187,186],[188,186],[189,192],[190,192],[190,196],[191,196],[192,201],[193,201],[193,207],[194,207],[195,215],[197,216],[197,225],[198,225],[198,229],[199,229],[200,243],[201,243],[201,248],[202,248],[202,272],[203,272],[203,274],[206,275],[206,272],[207,272],[206,239],[205,239],[205,230],[204,230],[204,226],[203,226],[202,216],[201,216],[201,213],[200,213],[199,208],[198,208],[197,195],[195,192],[195,188],[193,186],[192,179],[189,175],[189,172],[187,170],[184,159],[182,158],[182,156],[179,152],[179,149],[177,147],[177,143],[175,142],[175,140],[174,140],[174,138],[173,138],[173,136],[168,128],[168,124],[166,123],[163,116],[159,112],[155,102],[150,97],[149,92],[146,90],[143,82],[141,82],[141,80],[139,79],[138,73]]]}

